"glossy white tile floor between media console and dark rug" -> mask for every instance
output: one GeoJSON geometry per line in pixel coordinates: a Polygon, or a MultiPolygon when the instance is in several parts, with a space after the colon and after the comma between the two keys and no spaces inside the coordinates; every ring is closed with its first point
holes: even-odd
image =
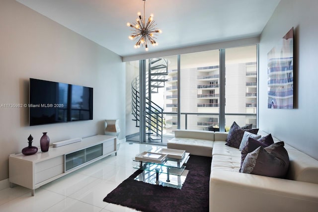
{"type": "Polygon", "coordinates": [[[2,189],[0,212],[136,212],[103,199],[136,171],[135,155],[153,146],[121,143],[117,156],[110,155],[48,183],[36,189],[34,197],[21,186],[2,189]]]}

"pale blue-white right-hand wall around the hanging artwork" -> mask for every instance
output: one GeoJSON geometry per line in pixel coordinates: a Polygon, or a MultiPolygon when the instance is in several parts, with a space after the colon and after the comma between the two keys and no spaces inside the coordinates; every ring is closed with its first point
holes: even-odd
{"type": "Polygon", "coordinates": [[[318,159],[317,0],[281,0],[260,36],[259,128],[318,159]],[[295,109],[267,109],[267,53],[294,27],[295,109]]]}

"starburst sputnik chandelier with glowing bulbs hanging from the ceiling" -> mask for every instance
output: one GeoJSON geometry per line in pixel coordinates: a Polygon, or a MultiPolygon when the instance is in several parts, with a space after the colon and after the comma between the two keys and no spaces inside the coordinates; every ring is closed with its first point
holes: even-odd
{"type": "Polygon", "coordinates": [[[138,17],[136,18],[136,23],[127,23],[127,26],[130,26],[132,29],[132,34],[128,37],[130,40],[137,41],[135,44],[135,48],[140,48],[140,46],[145,46],[146,51],[148,51],[148,45],[151,44],[153,46],[157,46],[158,42],[155,41],[157,39],[155,36],[158,33],[161,33],[161,30],[158,29],[153,19],[153,14],[150,15],[148,21],[146,22],[145,18],[145,4],[146,0],[144,1],[144,17],[141,15],[140,12],[137,13],[138,17]]]}

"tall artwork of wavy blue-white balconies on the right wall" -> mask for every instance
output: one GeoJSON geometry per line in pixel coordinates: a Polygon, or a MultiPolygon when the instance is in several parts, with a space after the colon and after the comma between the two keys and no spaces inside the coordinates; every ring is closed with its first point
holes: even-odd
{"type": "Polygon", "coordinates": [[[267,108],[294,108],[294,27],[267,53],[267,108]]]}

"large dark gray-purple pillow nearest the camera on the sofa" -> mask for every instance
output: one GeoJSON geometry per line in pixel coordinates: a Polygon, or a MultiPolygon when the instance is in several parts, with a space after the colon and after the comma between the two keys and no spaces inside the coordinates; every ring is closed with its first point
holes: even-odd
{"type": "Polygon", "coordinates": [[[284,178],[289,167],[289,157],[284,142],[258,147],[248,153],[240,172],[269,177],[284,178]]]}

